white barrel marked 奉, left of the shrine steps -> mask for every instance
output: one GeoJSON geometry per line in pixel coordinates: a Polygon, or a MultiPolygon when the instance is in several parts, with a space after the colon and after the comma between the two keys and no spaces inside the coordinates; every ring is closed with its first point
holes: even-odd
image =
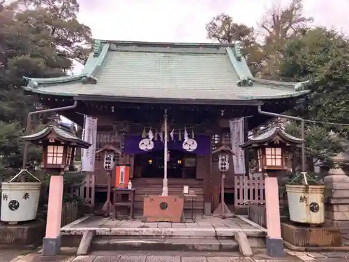
{"type": "Polygon", "coordinates": [[[20,222],[36,219],[41,182],[2,182],[1,221],[20,222]]]}

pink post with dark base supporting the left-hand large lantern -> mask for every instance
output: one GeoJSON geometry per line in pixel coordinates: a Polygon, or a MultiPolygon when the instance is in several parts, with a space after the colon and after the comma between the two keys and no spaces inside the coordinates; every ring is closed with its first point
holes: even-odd
{"type": "Polygon", "coordinates": [[[43,239],[43,255],[55,256],[61,252],[61,215],[63,202],[63,175],[51,175],[46,221],[43,239]]]}

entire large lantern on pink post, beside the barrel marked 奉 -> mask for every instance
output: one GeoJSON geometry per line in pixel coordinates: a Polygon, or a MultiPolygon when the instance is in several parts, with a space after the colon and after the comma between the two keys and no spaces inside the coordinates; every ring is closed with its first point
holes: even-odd
{"type": "Polygon", "coordinates": [[[87,149],[91,144],[77,138],[73,131],[61,124],[47,126],[38,133],[23,136],[22,140],[43,147],[43,168],[51,175],[43,254],[56,255],[61,249],[64,171],[73,162],[75,149],[87,149]]]}

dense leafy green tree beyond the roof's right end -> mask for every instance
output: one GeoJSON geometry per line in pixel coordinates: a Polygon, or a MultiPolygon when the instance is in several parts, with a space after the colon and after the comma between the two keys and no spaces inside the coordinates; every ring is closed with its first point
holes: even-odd
{"type": "MultiPolygon", "coordinates": [[[[310,94],[293,113],[306,119],[349,124],[349,41],[325,28],[311,29],[290,39],[283,51],[279,77],[311,80],[310,94]]],[[[338,126],[327,129],[339,131],[338,126]]]]}

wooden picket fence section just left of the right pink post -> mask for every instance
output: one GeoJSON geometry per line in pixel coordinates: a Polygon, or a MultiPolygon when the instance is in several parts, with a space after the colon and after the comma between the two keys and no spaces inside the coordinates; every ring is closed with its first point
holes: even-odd
{"type": "Polygon", "coordinates": [[[235,176],[234,189],[235,206],[265,205],[265,180],[262,174],[235,176]]]}

